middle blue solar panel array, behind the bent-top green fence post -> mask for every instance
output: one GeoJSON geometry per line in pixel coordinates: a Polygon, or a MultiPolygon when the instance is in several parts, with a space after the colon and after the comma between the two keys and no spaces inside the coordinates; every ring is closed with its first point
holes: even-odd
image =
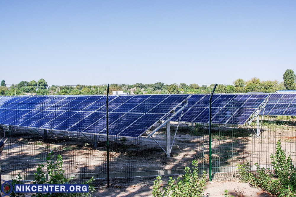
{"type": "MultiPolygon", "coordinates": [[[[212,123],[242,125],[268,97],[267,94],[217,94],[212,97],[212,123]]],[[[184,109],[181,121],[209,123],[210,95],[192,95],[184,109]]],[[[181,115],[173,118],[177,121],[181,115]]]]}

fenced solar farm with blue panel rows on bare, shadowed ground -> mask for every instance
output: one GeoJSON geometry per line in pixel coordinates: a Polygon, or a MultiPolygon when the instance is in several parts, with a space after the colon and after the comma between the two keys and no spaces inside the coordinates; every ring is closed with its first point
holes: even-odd
{"type": "Polygon", "coordinates": [[[232,180],[237,164],[270,167],[277,140],[296,160],[296,94],[214,94],[211,146],[209,99],[209,94],[1,96],[0,125],[9,138],[2,179],[20,173],[32,180],[52,151],[62,155],[67,176],[105,184],[107,136],[112,184],[176,177],[193,159],[200,172],[211,167],[213,180],[232,180]]]}

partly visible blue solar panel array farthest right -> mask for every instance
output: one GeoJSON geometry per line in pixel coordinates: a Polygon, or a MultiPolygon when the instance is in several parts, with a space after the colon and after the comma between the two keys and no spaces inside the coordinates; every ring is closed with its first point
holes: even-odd
{"type": "MultiPolygon", "coordinates": [[[[261,115],[263,112],[260,113],[261,115]]],[[[296,94],[271,94],[264,115],[296,115],[296,94]]]]}

